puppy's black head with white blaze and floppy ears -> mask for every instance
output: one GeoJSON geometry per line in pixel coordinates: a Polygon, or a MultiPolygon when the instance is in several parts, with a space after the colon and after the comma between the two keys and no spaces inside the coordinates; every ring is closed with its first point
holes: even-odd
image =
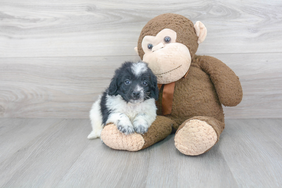
{"type": "Polygon", "coordinates": [[[157,77],[142,61],[125,62],[115,71],[108,94],[121,95],[126,102],[131,103],[150,98],[158,100],[157,77]]]}

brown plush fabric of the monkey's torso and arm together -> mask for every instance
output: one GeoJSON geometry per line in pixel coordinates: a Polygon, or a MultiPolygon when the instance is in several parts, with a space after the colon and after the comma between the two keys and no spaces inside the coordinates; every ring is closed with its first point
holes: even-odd
{"type": "MultiPolygon", "coordinates": [[[[189,70],[186,78],[175,82],[172,113],[166,117],[176,121],[178,125],[194,116],[213,117],[224,122],[219,96],[224,104],[239,104],[243,96],[239,78],[222,61],[210,56],[196,56],[189,70]]],[[[162,114],[162,91],[163,87],[157,103],[158,115],[162,114]]]]}

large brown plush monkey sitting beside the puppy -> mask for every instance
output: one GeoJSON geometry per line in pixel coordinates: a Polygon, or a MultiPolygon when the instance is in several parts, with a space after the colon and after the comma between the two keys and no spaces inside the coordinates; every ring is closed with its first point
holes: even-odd
{"type": "Polygon", "coordinates": [[[162,14],[142,29],[140,58],[158,78],[160,94],[156,121],[144,135],[124,135],[113,124],[106,125],[101,138],[114,149],[136,151],[176,131],[176,148],[186,155],[199,155],[214,146],[224,129],[224,106],[242,100],[239,78],[222,61],[195,55],[207,29],[182,15],[162,14]]]}

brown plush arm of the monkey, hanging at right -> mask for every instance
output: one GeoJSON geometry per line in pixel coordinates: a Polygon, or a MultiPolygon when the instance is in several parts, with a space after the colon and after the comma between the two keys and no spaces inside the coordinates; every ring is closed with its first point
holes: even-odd
{"type": "Polygon", "coordinates": [[[225,63],[211,56],[198,56],[201,69],[212,80],[218,98],[224,106],[236,106],[243,97],[239,77],[225,63]]]}

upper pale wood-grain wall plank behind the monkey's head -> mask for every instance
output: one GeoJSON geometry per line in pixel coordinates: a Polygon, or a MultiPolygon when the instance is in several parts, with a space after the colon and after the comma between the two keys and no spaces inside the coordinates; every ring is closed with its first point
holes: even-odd
{"type": "Polygon", "coordinates": [[[282,52],[281,1],[1,0],[0,57],[135,55],[143,26],[178,13],[208,30],[198,53],[282,52]]]}

